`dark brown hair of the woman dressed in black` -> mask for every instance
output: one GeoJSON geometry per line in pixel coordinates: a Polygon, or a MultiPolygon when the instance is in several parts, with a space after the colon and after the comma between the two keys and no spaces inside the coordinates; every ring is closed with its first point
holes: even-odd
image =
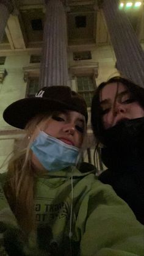
{"type": "Polygon", "coordinates": [[[133,97],[135,98],[135,101],[139,102],[140,106],[144,109],[144,89],[137,84],[134,84],[134,82],[130,81],[126,78],[121,78],[120,76],[114,76],[113,78],[110,78],[106,82],[102,82],[99,84],[98,88],[95,91],[95,95],[92,99],[92,129],[93,133],[98,139],[99,142],[103,143],[103,122],[102,122],[102,115],[101,115],[101,106],[100,106],[100,93],[101,90],[110,83],[118,83],[121,82],[128,90],[132,93],[133,97]]]}

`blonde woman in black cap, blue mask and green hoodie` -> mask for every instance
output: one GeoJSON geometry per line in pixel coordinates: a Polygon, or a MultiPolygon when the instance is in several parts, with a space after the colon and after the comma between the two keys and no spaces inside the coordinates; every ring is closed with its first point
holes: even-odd
{"type": "Polygon", "coordinates": [[[12,103],[4,120],[26,136],[0,175],[0,255],[143,255],[143,226],[87,164],[83,98],[43,87],[12,103]]]}

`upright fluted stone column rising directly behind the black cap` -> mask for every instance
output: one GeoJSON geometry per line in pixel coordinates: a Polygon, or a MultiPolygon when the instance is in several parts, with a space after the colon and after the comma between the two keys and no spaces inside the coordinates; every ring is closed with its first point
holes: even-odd
{"type": "Polygon", "coordinates": [[[47,0],[40,87],[67,85],[67,21],[65,9],[60,0],[47,0]]]}

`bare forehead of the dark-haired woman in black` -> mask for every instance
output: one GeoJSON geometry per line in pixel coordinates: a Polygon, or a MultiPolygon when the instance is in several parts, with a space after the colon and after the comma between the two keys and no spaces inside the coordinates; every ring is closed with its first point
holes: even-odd
{"type": "Polygon", "coordinates": [[[106,99],[113,99],[115,98],[115,95],[120,92],[124,92],[125,90],[128,90],[124,84],[121,82],[112,82],[110,84],[107,84],[102,90],[100,95],[100,101],[106,100],[106,99]]]}

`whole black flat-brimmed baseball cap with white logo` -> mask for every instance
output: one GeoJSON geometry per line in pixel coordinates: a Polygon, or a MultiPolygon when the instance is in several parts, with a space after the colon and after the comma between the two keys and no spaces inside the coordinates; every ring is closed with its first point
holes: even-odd
{"type": "Polygon", "coordinates": [[[84,98],[68,86],[43,87],[35,97],[23,98],[10,104],[3,113],[5,122],[24,129],[35,115],[49,111],[76,111],[84,115],[87,122],[87,104],[84,98]]]}

